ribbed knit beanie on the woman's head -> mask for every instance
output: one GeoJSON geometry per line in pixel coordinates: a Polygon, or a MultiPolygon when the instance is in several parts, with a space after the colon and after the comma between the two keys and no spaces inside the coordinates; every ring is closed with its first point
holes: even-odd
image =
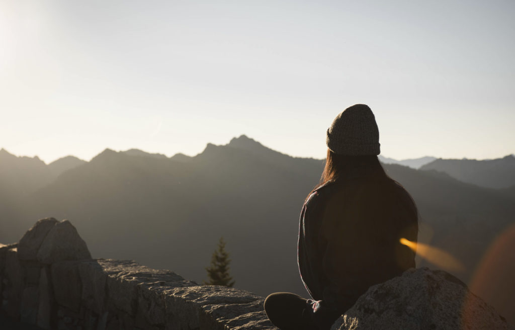
{"type": "Polygon", "coordinates": [[[366,105],[354,105],[342,111],[328,128],[325,143],[337,154],[380,154],[379,129],[372,110],[366,105]]]}

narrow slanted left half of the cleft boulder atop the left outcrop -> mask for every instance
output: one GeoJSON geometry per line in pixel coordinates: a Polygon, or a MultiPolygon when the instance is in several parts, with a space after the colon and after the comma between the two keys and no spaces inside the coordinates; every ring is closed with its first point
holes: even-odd
{"type": "Polygon", "coordinates": [[[20,239],[18,244],[18,257],[20,260],[36,260],[43,240],[57,223],[59,221],[55,218],[38,220],[20,239]]]}

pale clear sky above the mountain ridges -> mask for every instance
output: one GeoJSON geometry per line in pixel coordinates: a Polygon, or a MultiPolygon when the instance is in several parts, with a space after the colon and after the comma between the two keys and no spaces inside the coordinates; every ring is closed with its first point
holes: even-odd
{"type": "Polygon", "coordinates": [[[195,155],[245,134],[324,158],[369,105],[381,154],[515,153],[515,2],[0,0],[0,148],[195,155]]]}

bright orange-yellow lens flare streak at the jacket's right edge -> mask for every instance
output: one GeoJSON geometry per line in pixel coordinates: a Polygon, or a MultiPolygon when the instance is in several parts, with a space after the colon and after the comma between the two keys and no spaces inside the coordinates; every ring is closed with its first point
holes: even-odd
{"type": "Polygon", "coordinates": [[[420,257],[439,268],[454,272],[462,272],[465,270],[465,266],[448,252],[427,244],[412,242],[406,238],[401,238],[399,241],[401,244],[416,252],[420,257]]]}

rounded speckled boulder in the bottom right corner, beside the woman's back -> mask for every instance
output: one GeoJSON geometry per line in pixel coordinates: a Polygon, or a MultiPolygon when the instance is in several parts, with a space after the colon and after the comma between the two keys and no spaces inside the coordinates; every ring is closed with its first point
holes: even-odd
{"type": "Polygon", "coordinates": [[[426,267],[368,289],[331,330],[511,329],[453,275],[426,267]]]}

